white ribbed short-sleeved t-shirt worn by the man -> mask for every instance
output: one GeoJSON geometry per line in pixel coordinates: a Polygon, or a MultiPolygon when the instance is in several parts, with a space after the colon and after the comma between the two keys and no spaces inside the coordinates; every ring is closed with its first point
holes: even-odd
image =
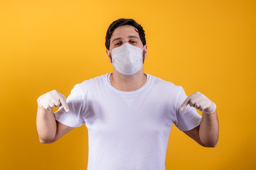
{"type": "Polygon", "coordinates": [[[200,124],[181,86],[152,75],[136,91],[124,92],[110,83],[110,74],[76,84],[56,120],[88,128],[88,170],[165,170],[166,148],[173,123],[186,131],[200,124]]]}

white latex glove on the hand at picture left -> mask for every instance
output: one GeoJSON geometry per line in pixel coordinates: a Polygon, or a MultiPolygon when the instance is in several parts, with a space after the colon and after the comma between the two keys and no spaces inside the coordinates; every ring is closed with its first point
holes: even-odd
{"type": "Polygon", "coordinates": [[[37,103],[46,110],[52,110],[54,107],[63,106],[66,112],[70,111],[69,107],[67,106],[65,96],[56,90],[49,91],[38,97],[37,103]]]}

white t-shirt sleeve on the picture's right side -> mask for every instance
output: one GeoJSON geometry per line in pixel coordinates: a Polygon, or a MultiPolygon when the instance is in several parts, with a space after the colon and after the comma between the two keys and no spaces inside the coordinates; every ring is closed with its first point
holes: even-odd
{"type": "Polygon", "coordinates": [[[180,87],[177,95],[176,121],[174,124],[182,131],[191,130],[196,126],[199,126],[202,119],[202,116],[190,105],[187,105],[183,111],[180,111],[180,106],[186,98],[187,95],[184,92],[184,89],[180,87]]]}

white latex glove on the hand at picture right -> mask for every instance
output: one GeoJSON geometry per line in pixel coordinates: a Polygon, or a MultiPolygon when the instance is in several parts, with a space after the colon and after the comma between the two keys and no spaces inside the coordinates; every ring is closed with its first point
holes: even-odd
{"type": "Polygon", "coordinates": [[[216,110],[216,104],[198,91],[186,98],[180,106],[180,110],[182,111],[188,104],[204,113],[210,114],[216,110]]]}

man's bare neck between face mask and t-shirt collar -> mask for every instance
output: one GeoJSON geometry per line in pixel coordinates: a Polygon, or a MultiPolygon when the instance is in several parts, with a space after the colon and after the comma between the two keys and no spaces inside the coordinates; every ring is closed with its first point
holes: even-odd
{"type": "Polygon", "coordinates": [[[133,75],[124,75],[113,71],[110,75],[110,82],[119,91],[135,91],[141,88],[147,81],[143,69],[133,75]]]}

